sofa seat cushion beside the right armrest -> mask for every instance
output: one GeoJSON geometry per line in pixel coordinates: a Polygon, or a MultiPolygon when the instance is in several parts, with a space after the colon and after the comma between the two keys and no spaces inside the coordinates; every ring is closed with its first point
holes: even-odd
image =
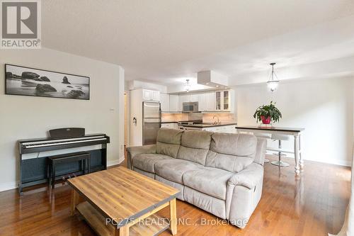
{"type": "Polygon", "coordinates": [[[205,167],[183,174],[183,183],[192,189],[225,200],[227,181],[232,175],[234,173],[222,169],[205,167]]]}

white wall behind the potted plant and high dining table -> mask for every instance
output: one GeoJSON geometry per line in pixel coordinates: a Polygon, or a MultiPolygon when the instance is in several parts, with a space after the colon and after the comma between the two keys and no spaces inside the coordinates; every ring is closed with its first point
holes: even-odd
{"type": "MultiPolygon", "coordinates": [[[[265,83],[236,89],[238,125],[256,125],[258,106],[276,101],[277,126],[305,128],[304,159],[350,165],[353,152],[353,78],[288,81],[271,93],[265,83]]],[[[271,142],[271,141],[270,141],[271,142]]],[[[270,143],[273,147],[276,143],[270,143]]],[[[293,139],[283,147],[293,149],[293,139]]]]}

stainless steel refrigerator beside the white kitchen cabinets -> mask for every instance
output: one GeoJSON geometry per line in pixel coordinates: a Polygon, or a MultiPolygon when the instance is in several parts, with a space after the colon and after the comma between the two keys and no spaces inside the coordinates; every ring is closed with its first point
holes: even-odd
{"type": "Polygon", "coordinates": [[[144,101],[142,103],[142,145],[155,144],[157,132],[160,128],[160,103],[144,101]]]}

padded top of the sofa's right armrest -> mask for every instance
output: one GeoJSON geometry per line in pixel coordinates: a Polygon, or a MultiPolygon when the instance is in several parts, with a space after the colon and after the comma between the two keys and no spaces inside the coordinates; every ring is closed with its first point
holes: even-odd
{"type": "Polygon", "coordinates": [[[254,189],[260,180],[263,180],[263,167],[261,164],[253,162],[241,172],[234,174],[227,184],[254,189]]]}

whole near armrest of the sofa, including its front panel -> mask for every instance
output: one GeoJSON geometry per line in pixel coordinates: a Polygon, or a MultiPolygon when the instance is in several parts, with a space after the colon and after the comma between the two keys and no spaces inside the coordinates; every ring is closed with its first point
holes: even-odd
{"type": "Polygon", "coordinates": [[[246,227],[250,216],[261,200],[263,166],[253,162],[227,181],[227,219],[237,227],[246,227]]]}

